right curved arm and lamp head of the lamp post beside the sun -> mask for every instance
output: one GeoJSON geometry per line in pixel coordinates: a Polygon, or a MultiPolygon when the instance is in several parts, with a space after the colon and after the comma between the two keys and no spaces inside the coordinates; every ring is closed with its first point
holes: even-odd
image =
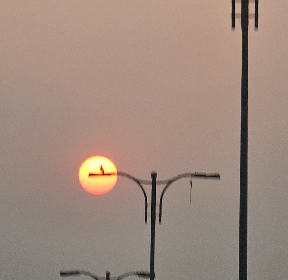
{"type": "MultiPolygon", "coordinates": [[[[203,173],[203,172],[194,172],[194,173],[183,173],[180,175],[177,175],[171,179],[168,180],[163,180],[160,182],[166,181],[166,186],[162,190],[161,196],[160,196],[160,203],[159,203],[159,224],[162,222],[162,199],[163,195],[166,192],[167,188],[174,183],[175,181],[187,177],[196,177],[196,178],[201,178],[201,179],[220,179],[220,174],[219,173],[203,173]]],[[[158,183],[158,182],[157,182],[158,183]]]]}

